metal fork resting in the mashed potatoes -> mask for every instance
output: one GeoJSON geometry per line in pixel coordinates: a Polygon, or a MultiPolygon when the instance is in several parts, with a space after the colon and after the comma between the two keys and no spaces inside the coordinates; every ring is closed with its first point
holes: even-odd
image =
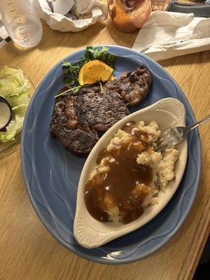
{"type": "Polygon", "coordinates": [[[202,125],[210,120],[210,115],[200,120],[193,125],[189,125],[188,127],[172,127],[169,128],[166,132],[162,134],[162,137],[156,142],[157,148],[155,151],[161,152],[165,151],[168,148],[172,148],[176,144],[179,144],[181,141],[186,139],[190,130],[193,130],[195,127],[202,125]]]}

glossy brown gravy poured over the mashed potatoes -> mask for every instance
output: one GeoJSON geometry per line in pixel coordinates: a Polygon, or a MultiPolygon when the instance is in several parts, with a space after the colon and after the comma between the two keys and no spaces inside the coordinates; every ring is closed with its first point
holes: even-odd
{"type": "Polygon", "coordinates": [[[97,164],[103,158],[109,172],[96,174],[85,183],[85,206],[97,221],[107,222],[109,210],[118,207],[122,223],[130,223],[144,213],[142,203],[148,194],[153,179],[153,170],[146,165],[137,164],[139,153],[148,151],[148,134],[139,130],[132,121],[123,125],[121,130],[130,134],[130,139],[116,149],[102,149],[97,157],[97,164]],[[138,183],[145,188],[136,189],[138,183]]]}

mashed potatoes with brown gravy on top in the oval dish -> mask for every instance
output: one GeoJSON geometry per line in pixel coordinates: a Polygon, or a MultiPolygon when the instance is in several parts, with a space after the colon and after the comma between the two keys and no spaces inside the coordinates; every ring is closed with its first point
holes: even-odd
{"type": "MultiPolygon", "coordinates": [[[[143,214],[145,207],[158,203],[158,193],[165,191],[169,181],[172,181],[175,176],[174,167],[179,158],[179,151],[175,148],[170,148],[163,153],[155,151],[155,142],[161,134],[158,123],[153,120],[146,125],[144,121],[139,121],[139,123],[130,125],[129,130],[127,127],[122,127],[111,139],[107,148],[104,149],[105,152],[103,151],[101,157],[98,158],[98,165],[90,176],[89,185],[87,184],[88,190],[90,190],[90,186],[95,193],[99,190],[100,195],[97,194],[94,197],[96,207],[94,211],[97,211],[97,207],[99,207],[99,211],[103,215],[107,215],[103,216],[105,218],[97,218],[98,220],[116,223],[134,221],[143,214]],[[122,150],[122,147],[125,148],[122,150]],[[122,174],[119,171],[116,173],[119,165],[121,165],[122,174]],[[139,178],[137,177],[138,167],[141,167],[139,178]],[[128,178],[129,176],[125,176],[126,172],[132,174],[131,180],[128,178]],[[111,174],[114,178],[111,177],[111,174]],[[120,176],[123,179],[119,178],[120,176]],[[111,180],[106,181],[108,177],[111,180]],[[123,192],[127,192],[126,187],[130,188],[129,182],[132,182],[134,188],[129,190],[126,200],[124,200],[123,192]],[[118,183],[122,186],[118,186],[118,183]],[[114,184],[116,185],[114,186],[114,184]],[[113,187],[118,188],[119,200],[115,197],[117,191],[113,190],[113,187]]],[[[92,201],[91,204],[94,202],[92,201]]],[[[87,204],[86,207],[89,211],[87,204]]],[[[94,216],[93,212],[90,214],[94,216]]]]}

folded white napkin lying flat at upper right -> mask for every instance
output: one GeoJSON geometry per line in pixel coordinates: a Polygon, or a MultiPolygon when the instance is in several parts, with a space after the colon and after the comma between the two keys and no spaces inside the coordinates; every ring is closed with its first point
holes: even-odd
{"type": "Polygon", "coordinates": [[[132,48],[155,60],[210,50],[210,18],[157,10],[140,29],[132,48]]]}

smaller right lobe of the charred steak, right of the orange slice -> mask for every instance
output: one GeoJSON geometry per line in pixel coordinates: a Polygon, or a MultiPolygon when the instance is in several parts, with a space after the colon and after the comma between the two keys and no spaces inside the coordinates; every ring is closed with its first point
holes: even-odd
{"type": "Polygon", "coordinates": [[[107,90],[118,92],[127,106],[139,104],[146,94],[148,94],[152,83],[151,73],[143,65],[133,72],[125,72],[119,78],[106,83],[107,90]]]}

